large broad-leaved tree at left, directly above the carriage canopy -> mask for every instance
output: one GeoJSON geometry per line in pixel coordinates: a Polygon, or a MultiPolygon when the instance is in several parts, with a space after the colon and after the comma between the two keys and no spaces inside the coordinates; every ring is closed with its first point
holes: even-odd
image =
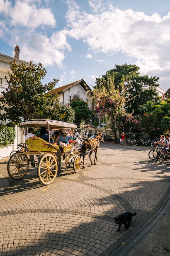
{"type": "Polygon", "coordinates": [[[11,71],[5,77],[8,88],[4,91],[0,99],[1,119],[9,119],[16,124],[24,120],[33,118],[51,118],[57,111],[58,96],[49,95],[58,80],[43,85],[41,79],[46,75],[46,69],[41,64],[37,67],[25,63],[20,65],[16,61],[10,62],[11,71]]]}

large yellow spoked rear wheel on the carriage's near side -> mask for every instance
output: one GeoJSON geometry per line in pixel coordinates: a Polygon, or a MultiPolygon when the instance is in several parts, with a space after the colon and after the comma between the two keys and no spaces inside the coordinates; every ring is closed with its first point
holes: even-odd
{"type": "Polygon", "coordinates": [[[41,157],[38,163],[38,178],[44,185],[51,184],[58,171],[57,160],[51,153],[41,157]]]}

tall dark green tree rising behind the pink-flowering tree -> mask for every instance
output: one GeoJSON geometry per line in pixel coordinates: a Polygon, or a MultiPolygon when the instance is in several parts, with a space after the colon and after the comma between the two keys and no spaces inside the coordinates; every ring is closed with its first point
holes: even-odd
{"type": "Polygon", "coordinates": [[[139,67],[136,65],[115,65],[114,69],[106,72],[102,78],[96,78],[96,86],[99,87],[101,80],[106,88],[108,76],[114,79],[115,89],[125,98],[124,108],[126,112],[138,114],[138,106],[152,100],[159,102],[159,96],[156,87],[159,85],[155,76],[149,78],[148,75],[140,76],[139,67]]]}

